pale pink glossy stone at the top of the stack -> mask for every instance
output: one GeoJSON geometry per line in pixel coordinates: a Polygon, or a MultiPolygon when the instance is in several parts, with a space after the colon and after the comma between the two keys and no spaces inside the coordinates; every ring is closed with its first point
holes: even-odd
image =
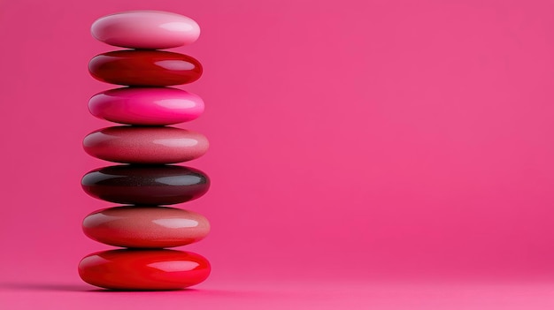
{"type": "Polygon", "coordinates": [[[169,11],[121,11],[106,15],[90,27],[98,41],[129,49],[171,49],[195,42],[200,26],[169,11]]]}

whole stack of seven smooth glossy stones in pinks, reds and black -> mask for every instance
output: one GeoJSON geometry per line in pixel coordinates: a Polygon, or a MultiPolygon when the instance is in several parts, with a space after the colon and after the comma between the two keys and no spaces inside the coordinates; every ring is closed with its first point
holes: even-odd
{"type": "Polygon", "coordinates": [[[88,172],[81,180],[90,196],[123,204],[88,215],[82,228],[98,242],[122,249],[92,253],[79,264],[88,284],[112,290],[175,290],[203,282],[210,263],[196,253],[165,249],[204,238],[210,223],[181,208],[162,207],[206,193],[204,172],[170,165],[195,159],[208,149],[203,134],[167,125],[199,117],[204,102],[168,86],[202,75],[193,57],[161,51],[195,42],[196,22],[164,11],[126,11],[97,19],[92,34],[127,48],[93,57],[88,71],[98,80],[126,87],[94,95],[90,112],[123,124],[91,132],[88,155],[124,163],[88,172]]]}

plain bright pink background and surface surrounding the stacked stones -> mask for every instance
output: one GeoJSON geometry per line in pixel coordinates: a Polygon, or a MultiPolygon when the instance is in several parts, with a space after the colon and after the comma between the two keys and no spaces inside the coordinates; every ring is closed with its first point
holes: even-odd
{"type": "Polygon", "coordinates": [[[0,1],[0,308],[554,306],[551,1],[0,1]],[[76,265],[113,204],[81,191],[106,166],[81,140],[111,125],[88,59],[117,49],[114,11],[188,15],[204,64],[179,125],[212,178],[179,207],[209,238],[196,290],[102,293],[76,265]]]}

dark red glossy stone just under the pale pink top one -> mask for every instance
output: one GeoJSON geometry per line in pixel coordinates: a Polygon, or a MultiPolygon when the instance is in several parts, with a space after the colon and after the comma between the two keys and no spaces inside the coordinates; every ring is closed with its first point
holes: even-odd
{"type": "Polygon", "coordinates": [[[106,83],[164,87],[194,82],[202,65],[193,57],[162,50],[116,50],[96,55],[88,72],[106,83]]]}

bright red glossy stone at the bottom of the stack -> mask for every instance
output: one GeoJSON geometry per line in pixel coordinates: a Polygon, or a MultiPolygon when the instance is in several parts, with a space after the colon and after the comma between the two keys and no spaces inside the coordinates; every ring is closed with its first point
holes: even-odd
{"type": "Polygon", "coordinates": [[[103,251],[79,263],[83,281],[110,290],[178,290],[203,282],[210,271],[201,255],[163,249],[103,251]]]}

